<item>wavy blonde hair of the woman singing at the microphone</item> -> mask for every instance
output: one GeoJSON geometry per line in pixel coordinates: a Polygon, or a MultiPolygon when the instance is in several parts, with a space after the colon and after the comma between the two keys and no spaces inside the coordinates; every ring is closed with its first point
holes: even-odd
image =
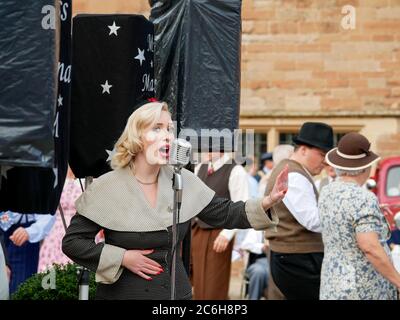
{"type": "Polygon", "coordinates": [[[114,145],[111,168],[119,169],[129,165],[143,150],[143,131],[157,121],[162,111],[168,112],[165,102],[150,102],[136,109],[128,118],[124,132],[114,145]]]}

